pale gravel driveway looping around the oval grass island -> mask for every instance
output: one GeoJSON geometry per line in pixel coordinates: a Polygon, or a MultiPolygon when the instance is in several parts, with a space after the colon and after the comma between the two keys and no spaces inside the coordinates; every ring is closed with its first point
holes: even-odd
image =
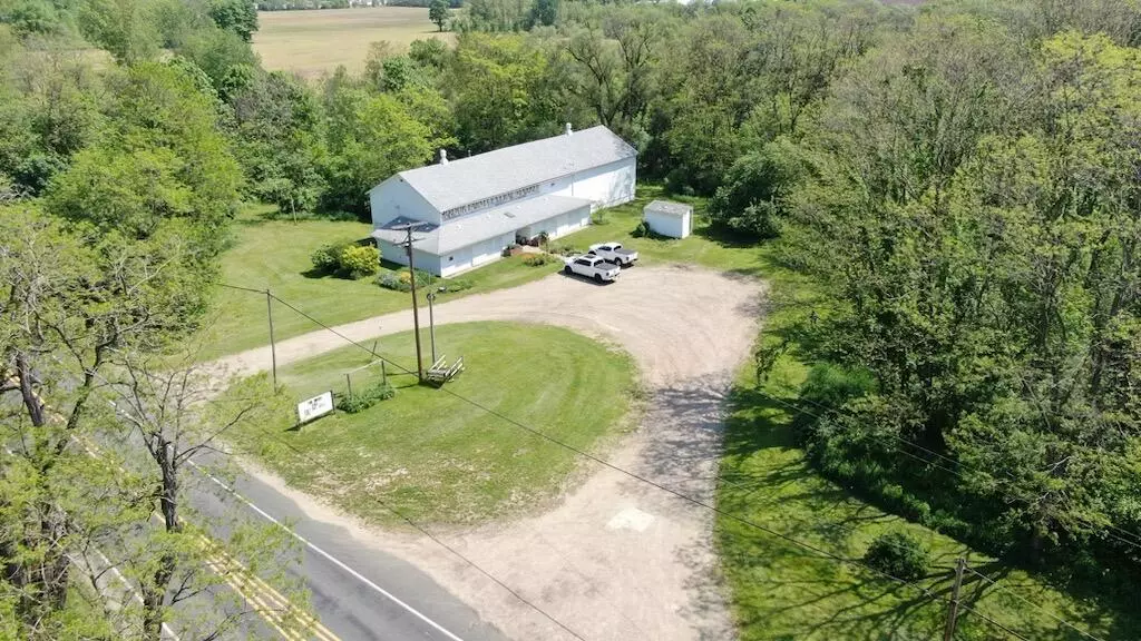
{"type": "MultiPolygon", "coordinates": [[[[764,287],[698,268],[636,267],[614,285],[561,275],[436,307],[437,323],[551,323],[613,340],[641,367],[649,407],[638,431],[609,461],[666,487],[712,501],[725,393],[756,333],[764,287]]],[[[410,311],[339,326],[353,340],[412,328],[410,311]]],[[[277,346],[284,364],[340,348],[315,332],[277,346]]],[[[232,374],[268,367],[269,350],[219,362],[232,374]]],[[[539,370],[541,371],[541,368],[539,370]]],[[[582,638],[729,639],[733,626],[717,578],[712,516],[594,463],[597,470],[553,510],[537,517],[445,535],[528,600],[582,638]]],[[[405,557],[519,640],[572,639],[486,577],[427,539],[370,532],[254,471],[362,542],[405,557]]]]}

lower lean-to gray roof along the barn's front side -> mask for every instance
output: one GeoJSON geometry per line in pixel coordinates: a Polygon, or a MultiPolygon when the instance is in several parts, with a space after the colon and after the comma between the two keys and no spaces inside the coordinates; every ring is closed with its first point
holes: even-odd
{"type": "MultiPolygon", "coordinates": [[[[414,246],[430,254],[444,255],[458,249],[474,245],[476,243],[494,238],[509,232],[515,232],[528,225],[533,225],[548,218],[589,208],[590,201],[586,198],[572,198],[568,196],[544,195],[534,198],[525,198],[508,203],[495,209],[489,209],[475,216],[464,216],[455,220],[450,220],[442,227],[430,222],[420,222],[412,233],[415,240],[414,246]]],[[[373,229],[372,236],[389,243],[403,243],[407,236],[403,229],[395,229],[402,225],[416,224],[419,221],[405,218],[397,218],[383,227],[373,229]]]]}

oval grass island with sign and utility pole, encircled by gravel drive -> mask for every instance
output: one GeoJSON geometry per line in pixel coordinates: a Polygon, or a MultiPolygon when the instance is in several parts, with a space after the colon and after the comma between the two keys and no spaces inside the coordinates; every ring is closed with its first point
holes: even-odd
{"type": "MultiPolygon", "coordinates": [[[[383,502],[418,521],[471,525],[547,504],[581,461],[448,391],[588,451],[634,423],[622,421],[637,389],[625,352],[548,325],[467,323],[436,335],[440,351],[467,365],[446,390],[390,375],[396,397],[291,430],[298,400],[345,391],[343,373],[371,362],[349,347],[282,370],[285,391],[273,407],[227,438],[290,485],[367,521],[398,520],[383,502]]],[[[377,350],[408,368],[415,363],[411,333],[381,339],[377,350]]],[[[359,370],[353,386],[380,376],[379,366],[359,370]]],[[[265,384],[260,376],[229,393],[265,384]]]]}

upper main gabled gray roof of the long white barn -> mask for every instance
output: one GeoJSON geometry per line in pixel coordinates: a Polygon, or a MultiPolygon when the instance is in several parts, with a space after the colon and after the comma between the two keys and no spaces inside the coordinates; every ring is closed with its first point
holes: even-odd
{"type": "Polygon", "coordinates": [[[598,125],[396,176],[443,212],[637,154],[625,140],[598,125]]]}

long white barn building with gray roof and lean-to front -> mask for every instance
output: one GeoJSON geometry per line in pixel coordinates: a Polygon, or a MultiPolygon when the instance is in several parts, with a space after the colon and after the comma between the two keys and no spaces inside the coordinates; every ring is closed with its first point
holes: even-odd
{"type": "Polygon", "coordinates": [[[402,171],[369,192],[372,236],[386,260],[453,276],[497,260],[517,237],[558,238],[592,211],[634,197],[637,152],[605,127],[402,171]]]}

